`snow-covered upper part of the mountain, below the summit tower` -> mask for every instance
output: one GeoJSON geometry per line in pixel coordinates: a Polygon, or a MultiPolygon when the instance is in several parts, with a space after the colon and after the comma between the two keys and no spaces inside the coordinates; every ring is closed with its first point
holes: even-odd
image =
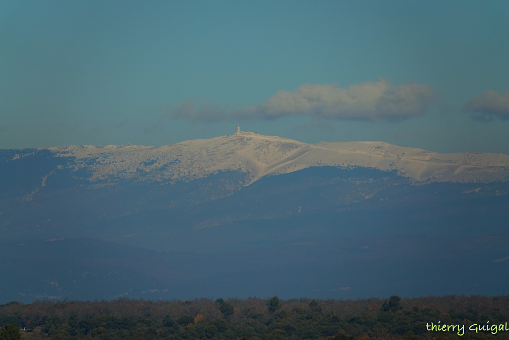
{"type": "MultiPolygon", "coordinates": [[[[509,180],[509,156],[500,153],[436,153],[384,142],[321,142],[241,132],[158,147],[139,145],[48,148],[67,161],[61,168],[86,169],[94,183],[119,179],[175,182],[220,171],[240,171],[245,184],[313,166],[368,167],[397,171],[416,181],[490,182],[509,180]]],[[[25,154],[24,156],[30,155],[25,154]]],[[[10,161],[20,157],[14,154],[10,161]]],[[[41,178],[41,185],[47,177],[41,178]]],[[[105,185],[105,184],[104,184],[105,185]]]]}

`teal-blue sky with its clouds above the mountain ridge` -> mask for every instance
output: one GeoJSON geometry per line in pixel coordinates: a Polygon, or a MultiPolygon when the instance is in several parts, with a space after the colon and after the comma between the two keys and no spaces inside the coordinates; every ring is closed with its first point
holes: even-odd
{"type": "Polygon", "coordinates": [[[509,154],[509,2],[0,2],[0,148],[244,131],[509,154]]]}

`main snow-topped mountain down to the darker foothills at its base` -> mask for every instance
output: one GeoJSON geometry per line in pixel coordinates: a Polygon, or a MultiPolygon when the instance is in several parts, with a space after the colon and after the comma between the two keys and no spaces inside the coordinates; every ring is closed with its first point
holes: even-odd
{"type": "Polygon", "coordinates": [[[491,216],[490,225],[479,222],[491,231],[503,224],[508,162],[502,154],[304,144],[253,133],[160,147],[0,150],[0,232],[213,252],[341,233],[426,234],[437,225],[449,235],[475,234],[472,221],[491,216]],[[393,222],[380,224],[377,214],[393,222]],[[415,223],[414,215],[425,218],[415,223]],[[315,217],[318,234],[303,222],[315,217]]]}

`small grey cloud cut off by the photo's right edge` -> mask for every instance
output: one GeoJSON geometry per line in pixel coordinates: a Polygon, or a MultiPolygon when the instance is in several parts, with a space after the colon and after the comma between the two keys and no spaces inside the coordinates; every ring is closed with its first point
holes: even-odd
{"type": "Polygon", "coordinates": [[[474,112],[473,116],[479,120],[491,120],[498,117],[502,120],[509,119],[509,91],[485,91],[477,97],[473,97],[465,104],[465,110],[474,112]]]}

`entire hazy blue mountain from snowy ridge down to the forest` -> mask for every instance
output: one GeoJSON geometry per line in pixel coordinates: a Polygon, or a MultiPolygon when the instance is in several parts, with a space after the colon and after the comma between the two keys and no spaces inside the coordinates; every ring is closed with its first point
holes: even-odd
{"type": "Polygon", "coordinates": [[[504,293],[493,284],[505,282],[500,268],[509,264],[493,262],[509,256],[504,154],[240,132],[159,147],[3,149],[0,173],[3,271],[31,268],[3,283],[3,301],[126,292],[355,298],[397,286],[407,296],[504,293]],[[400,250],[349,246],[366,238],[400,250]],[[494,266],[486,280],[465,275],[474,263],[494,266]],[[422,283],[444,271],[462,283],[422,283]]]}

